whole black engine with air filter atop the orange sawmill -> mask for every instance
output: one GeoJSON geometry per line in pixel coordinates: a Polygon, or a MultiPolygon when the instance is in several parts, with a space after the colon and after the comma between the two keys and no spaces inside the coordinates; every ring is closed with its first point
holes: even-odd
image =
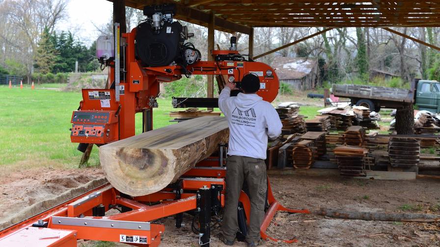
{"type": "Polygon", "coordinates": [[[147,19],[138,25],[136,55],[146,66],[187,66],[200,61],[200,51],[185,41],[194,36],[187,26],[173,22],[174,4],[146,6],[147,19]]]}

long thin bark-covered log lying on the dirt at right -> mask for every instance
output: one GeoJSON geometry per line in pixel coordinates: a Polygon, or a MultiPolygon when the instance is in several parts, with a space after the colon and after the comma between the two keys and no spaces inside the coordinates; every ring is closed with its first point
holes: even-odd
{"type": "Polygon", "coordinates": [[[320,208],[316,214],[333,218],[363,221],[440,222],[440,215],[434,214],[357,212],[330,208],[320,208]]]}

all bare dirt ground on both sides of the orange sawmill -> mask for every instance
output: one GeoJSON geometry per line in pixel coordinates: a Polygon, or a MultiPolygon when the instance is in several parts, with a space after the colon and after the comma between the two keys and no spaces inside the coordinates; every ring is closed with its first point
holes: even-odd
{"type": "MultiPolygon", "coordinates": [[[[100,169],[58,170],[40,169],[25,174],[1,177],[0,218],[31,205],[37,200],[56,196],[102,176],[100,169]]],[[[358,180],[339,176],[313,177],[301,175],[271,175],[275,197],[289,208],[320,207],[369,212],[416,212],[440,214],[440,180],[416,181],[358,180]]],[[[160,219],[165,224],[164,247],[198,246],[198,236],[191,231],[192,216],[185,214],[184,227],[176,229],[173,218],[160,219]]],[[[224,247],[216,235],[220,224],[213,222],[211,246],[224,247]]],[[[402,223],[342,220],[318,216],[278,212],[268,229],[279,239],[297,238],[298,243],[267,241],[263,246],[311,247],[438,247],[440,222],[402,223]]],[[[101,246],[95,241],[81,241],[79,246],[101,246]]],[[[126,246],[116,244],[116,246],[126,246]]],[[[246,246],[236,242],[236,246],[246,246]]]]}

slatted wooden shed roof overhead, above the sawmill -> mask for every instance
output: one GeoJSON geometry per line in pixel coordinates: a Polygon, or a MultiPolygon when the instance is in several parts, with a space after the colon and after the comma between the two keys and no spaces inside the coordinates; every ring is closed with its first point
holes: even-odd
{"type": "Polygon", "coordinates": [[[138,9],[165,2],[177,4],[177,19],[206,26],[213,11],[218,29],[244,33],[258,26],[440,25],[440,1],[433,0],[125,0],[138,9]]]}

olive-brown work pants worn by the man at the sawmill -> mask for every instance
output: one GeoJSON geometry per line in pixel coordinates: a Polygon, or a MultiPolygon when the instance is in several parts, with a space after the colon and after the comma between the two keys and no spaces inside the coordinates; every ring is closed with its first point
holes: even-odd
{"type": "Polygon", "coordinates": [[[243,181],[247,181],[250,199],[250,219],[246,241],[260,241],[260,226],[264,218],[267,191],[266,164],[262,159],[229,156],[226,169],[226,198],[222,232],[226,240],[233,241],[238,231],[238,199],[243,181]]]}

